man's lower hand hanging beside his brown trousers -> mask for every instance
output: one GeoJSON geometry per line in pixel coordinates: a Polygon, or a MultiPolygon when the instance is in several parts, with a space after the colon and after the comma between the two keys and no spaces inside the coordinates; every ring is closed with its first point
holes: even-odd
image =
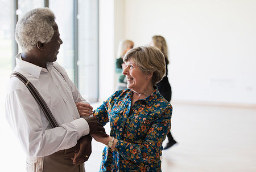
{"type": "Polygon", "coordinates": [[[76,144],[75,156],[71,158],[73,164],[82,164],[88,160],[92,153],[92,137],[90,135],[82,136],[76,144]]]}

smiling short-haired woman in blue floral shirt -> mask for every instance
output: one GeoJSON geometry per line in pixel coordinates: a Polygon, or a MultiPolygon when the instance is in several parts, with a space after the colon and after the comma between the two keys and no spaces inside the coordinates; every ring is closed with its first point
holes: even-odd
{"type": "Polygon", "coordinates": [[[92,135],[106,145],[99,171],[160,172],[162,143],[171,128],[172,105],[156,84],[166,73],[163,53],[153,46],[131,49],[123,58],[127,89],[118,90],[94,110],[109,137],[92,135]]]}

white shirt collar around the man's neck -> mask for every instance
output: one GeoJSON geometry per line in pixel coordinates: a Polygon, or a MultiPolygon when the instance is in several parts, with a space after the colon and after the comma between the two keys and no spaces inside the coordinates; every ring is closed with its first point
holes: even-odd
{"type": "Polygon", "coordinates": [[[30,62],[23,61],[21,58],[21,53],[16,55],[16,67],[22,68],[22,70],[27,71],[31,75],[35,76],[35,78],[39,78],[41,71],[48,72],[52,70],[53,63],[47,63],[46,68],[36,66],[30,62]]]}

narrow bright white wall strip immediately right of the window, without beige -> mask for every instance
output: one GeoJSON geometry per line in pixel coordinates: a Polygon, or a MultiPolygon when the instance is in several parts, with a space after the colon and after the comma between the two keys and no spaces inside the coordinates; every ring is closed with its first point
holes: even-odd
{"type": "Polygon", "coordinates": [[[99,102],[114,92],[114,0],[99,1],[99,102]]]}

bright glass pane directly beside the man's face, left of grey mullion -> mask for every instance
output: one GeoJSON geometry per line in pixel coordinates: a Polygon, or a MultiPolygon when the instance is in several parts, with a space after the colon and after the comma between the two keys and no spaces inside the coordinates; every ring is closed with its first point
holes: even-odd
{"type": "Polygon", "coordinates": [[[69,78],[74,81],[73,1],[52,0],[49,1],[49,8],[56,16],[60,38],[63,41],[57,55],[57,62],[65,68],[69,78]]]}

